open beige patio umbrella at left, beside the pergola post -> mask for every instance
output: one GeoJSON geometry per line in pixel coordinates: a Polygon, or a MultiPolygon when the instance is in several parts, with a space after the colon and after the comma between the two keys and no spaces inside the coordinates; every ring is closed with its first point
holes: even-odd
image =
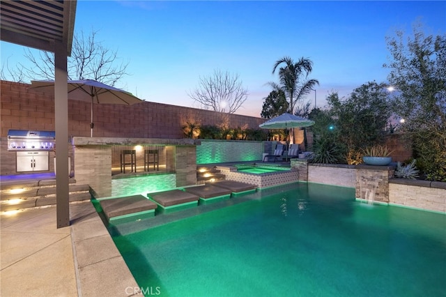
{"type": "MultiPolygon", "coordinates": [[[[31,87],[41,92],[54,92],[54,80],[33,80],[31,87]]],[[[69,80],[68,99],[91,102],[91,137],[93,137],[93,103],[133,105],[143,100],[131,93],[92,79],[69,80]]]]}

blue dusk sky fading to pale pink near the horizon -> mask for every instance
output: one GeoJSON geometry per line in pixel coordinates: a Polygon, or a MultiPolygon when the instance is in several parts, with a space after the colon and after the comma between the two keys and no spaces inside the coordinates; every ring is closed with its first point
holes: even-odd
{"type": "MultiPolygon", "coordinates": [[[[249,96],[237,114],[260,116],[283,56],[313,61],[317,105],[385,82],[385,36],[420,20],[446,32],[446,1],[78,1],[75,32],[116,50],[127,72],[116,86],[144,100],[198,107],[187,92],[220,69],[238,74],[249,96]]],[[[1,42],[1,63],[26,63],[24,47],[1,42]]],[[[314,93],[308,100],[314,104],[314,93]]]]}

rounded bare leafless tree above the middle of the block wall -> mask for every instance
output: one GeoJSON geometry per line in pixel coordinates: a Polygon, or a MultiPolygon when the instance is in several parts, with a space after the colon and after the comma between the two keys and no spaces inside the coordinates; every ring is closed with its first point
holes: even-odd
{"type": "Polygon", "coordinates": [[[243,105],[248,93],[238,75],[214,70],[213,75],[200,77],[199,86],[188,95],[204,109],[233,114],[243,105]]]}

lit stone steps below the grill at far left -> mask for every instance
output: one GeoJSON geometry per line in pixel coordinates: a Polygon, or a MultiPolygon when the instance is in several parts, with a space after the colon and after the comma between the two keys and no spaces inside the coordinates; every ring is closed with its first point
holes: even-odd
{"type": "MultiPolygon", "coordinates": [[[[77,185],[70,178],[68,186],[70,203],[90,201],[90,186],[77,185]]],[[[0,211],[16,211],[56,205],[56,180],[17,181],[2,183],[0,188],[0,211]]]]}

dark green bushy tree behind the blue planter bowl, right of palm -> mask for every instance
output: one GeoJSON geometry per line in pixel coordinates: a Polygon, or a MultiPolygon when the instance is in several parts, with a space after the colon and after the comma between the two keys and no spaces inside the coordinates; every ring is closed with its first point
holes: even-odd
{"type": "Polygon", "coordinates": [[[358,152],[385,141],[385,128],[391,114],[385,84],[368,82],[353,90],[348,98],[336,92],[326,98],[327,110],[313,109],[315,121],[314,162],[352,163],[358,152]]]}

